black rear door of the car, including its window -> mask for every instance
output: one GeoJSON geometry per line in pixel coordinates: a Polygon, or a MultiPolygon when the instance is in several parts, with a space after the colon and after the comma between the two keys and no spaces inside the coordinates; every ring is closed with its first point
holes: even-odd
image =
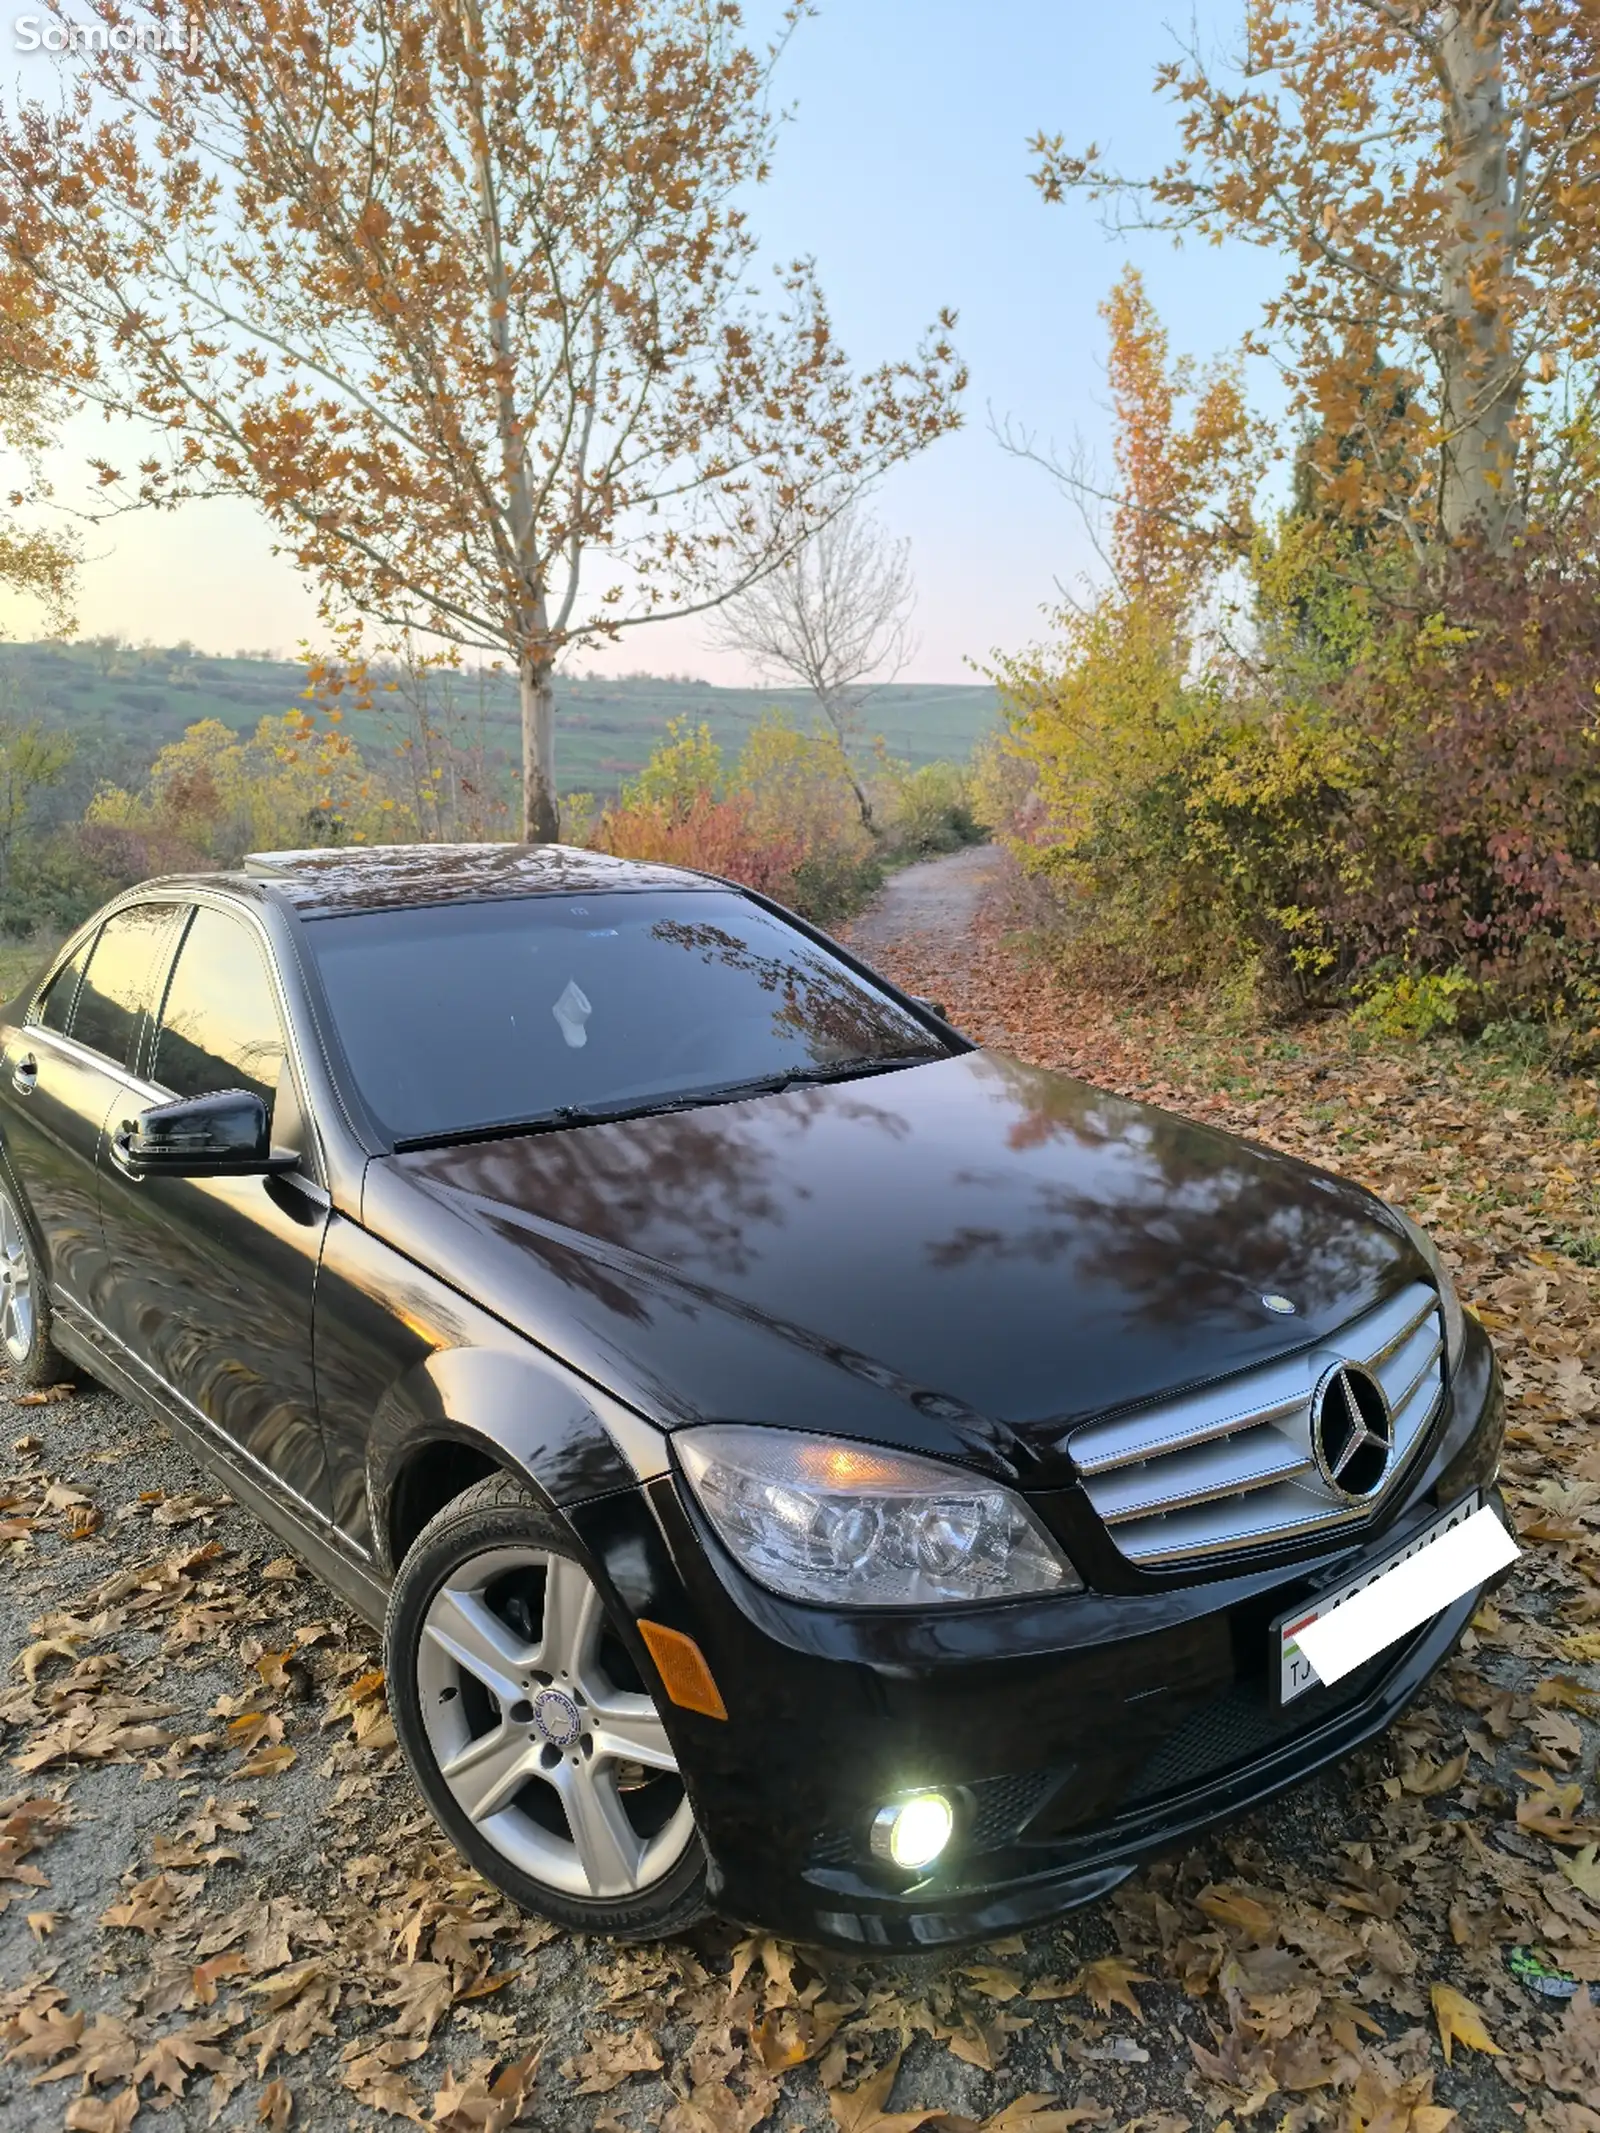
{"type": "Polygon", "coordinates": [[[175,904],[130,904],[41,988],[0,1058],[13,1180],[43,1248],[51,1295],[98,1316],[105,1288],[96,1160],[105,1122],[143,1043],[175,904]]]}

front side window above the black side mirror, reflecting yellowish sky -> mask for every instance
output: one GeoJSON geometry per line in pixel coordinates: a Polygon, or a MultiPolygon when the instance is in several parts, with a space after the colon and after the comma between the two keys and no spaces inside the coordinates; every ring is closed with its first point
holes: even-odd
{"type": "Polygon", "coordinates": [[[166,988],[151,1079],[175,1096],[247,1088],[271,1103],[282,1064],[284,1026],[260,947],[239,919],[201,904],[166,988]]]}

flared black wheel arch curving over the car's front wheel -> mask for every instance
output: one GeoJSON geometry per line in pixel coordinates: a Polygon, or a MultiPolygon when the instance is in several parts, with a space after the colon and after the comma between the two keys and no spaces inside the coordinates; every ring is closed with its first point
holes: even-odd
{"type": "Polygon", "coordinates": [[[666,1474],[666,1436],[531,1346],[437,1348],[390,1389],[367,1438],[367,1510],[395,1572],[397,1493],[418,1457],[459,1446],[570,1510],[666,1474]]]}

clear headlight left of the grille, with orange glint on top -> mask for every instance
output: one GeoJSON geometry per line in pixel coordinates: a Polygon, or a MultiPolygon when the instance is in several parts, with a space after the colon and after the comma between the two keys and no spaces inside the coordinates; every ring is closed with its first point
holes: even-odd
{"type": "Polygon", "coordinates": [[[1084,1583],[1020,1497],[960,1468],[789,1429],[672,1444],[736,1561],[791,1600],[939,1606],[1084,1583]]]}

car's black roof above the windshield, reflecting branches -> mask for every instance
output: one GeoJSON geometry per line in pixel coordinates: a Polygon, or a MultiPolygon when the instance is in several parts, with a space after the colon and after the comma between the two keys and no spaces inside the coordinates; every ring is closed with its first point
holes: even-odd
{"type": "Polygon", "coordinates": [[[642,860],[614,860],[576,845],[337,845],[311,851],[252,851],[245,883],[303,919],[420,904],[497,902],[595,889],[706,889],[706,875],[642,860]]]}

